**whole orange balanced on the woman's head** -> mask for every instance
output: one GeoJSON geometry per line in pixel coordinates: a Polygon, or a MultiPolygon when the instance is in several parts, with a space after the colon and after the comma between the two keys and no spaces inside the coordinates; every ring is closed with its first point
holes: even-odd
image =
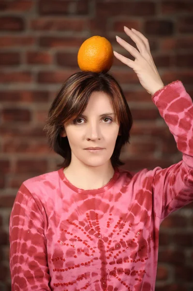
{"type": "Polygon", "coordinates": [[[78,50],[78,65],[82,71],[107,72],[113,65],[113,48],[103,36],[86,39],[78,50]]]}

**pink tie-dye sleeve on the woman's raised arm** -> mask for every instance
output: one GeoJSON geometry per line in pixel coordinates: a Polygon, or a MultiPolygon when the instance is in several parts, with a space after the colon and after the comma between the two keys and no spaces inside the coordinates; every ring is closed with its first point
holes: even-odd
{"type": "Polygon", "coordinates": [[[193,102],[181,81],[157,91],[152,100],[174,135],[182,161],[168,168],[149,171],[154,210],[163,220],[193,201],[193,102]]]}

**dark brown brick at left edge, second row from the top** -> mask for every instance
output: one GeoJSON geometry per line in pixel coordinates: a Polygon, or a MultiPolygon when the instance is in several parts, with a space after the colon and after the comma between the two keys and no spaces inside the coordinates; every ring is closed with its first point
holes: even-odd
{"type": "Polygon", "coordinates": [[[24,30],[24,21],[16,16],[1,16],[0,17],[0,31],[16,31],[24,30]]]}

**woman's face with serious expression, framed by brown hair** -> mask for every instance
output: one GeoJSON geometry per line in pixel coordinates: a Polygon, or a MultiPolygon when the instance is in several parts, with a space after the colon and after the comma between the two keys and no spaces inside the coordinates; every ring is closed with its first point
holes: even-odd
{"type": "Polygon", "coordinates": [[[110,162],[117,136],[117,121],[111,99],[104,92],[93,92],[86,110],[74,121],[64,124],[61,136],[67,136],[72,152],[71,162],[97,167],[110,162]],[[101,147],[88,150],[88,147],[101,147]],[[78,160],[78,161],[77,161],[78,160]]]}

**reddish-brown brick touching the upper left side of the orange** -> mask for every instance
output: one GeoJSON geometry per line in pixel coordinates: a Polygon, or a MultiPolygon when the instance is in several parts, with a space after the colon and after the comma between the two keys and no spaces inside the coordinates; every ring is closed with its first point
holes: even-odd
{"type": "Polygon", "coordinates": [[[83,37],[55,37],[55,36],[42,36],[39,39],[39,45],[41,47],[48,48],[64,48],[64,47],[75,47],[78,48],[86,40],[83,37]]]}

